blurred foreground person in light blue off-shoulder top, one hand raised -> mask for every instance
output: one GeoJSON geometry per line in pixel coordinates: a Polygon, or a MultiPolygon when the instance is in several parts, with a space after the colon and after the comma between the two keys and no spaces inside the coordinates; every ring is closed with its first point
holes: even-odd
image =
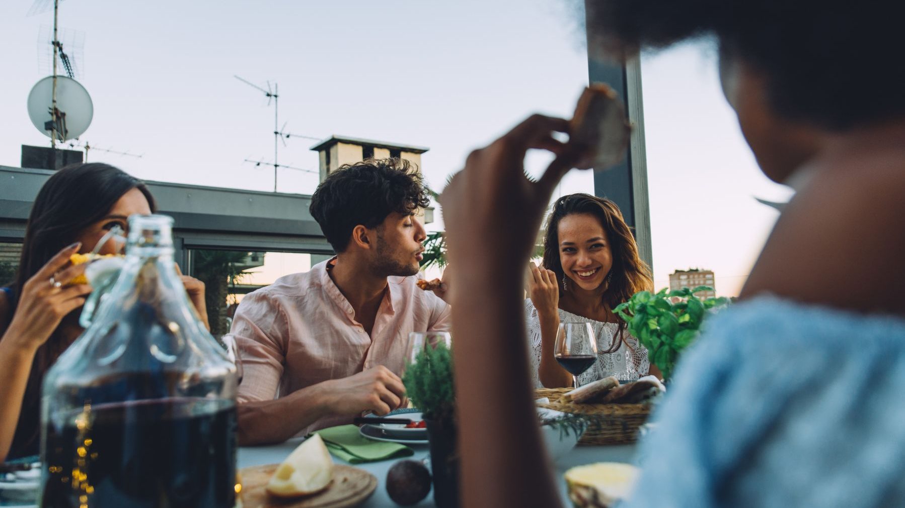
{"type": "MultiPolygon", "coordinates": [[[[905,65],[895,4],[585,5],[589,46],[613,54],[716,40],[723,91],[758,165],[796,192],[741,303],[681,359],[624,506],[905,505],[905,65]]],[[[544,207],[588,155],[554,135],[571,128],[526,119],[472,152],[441,195],[450,263],[469,268],[451,284],[469,508],[561,503],[561,480],[528,424],[526,337],[513,324],[524,319],[521,270],[544,207]],[[536,181],[523,174],[529,149],[554,155],[536,181]]]]}

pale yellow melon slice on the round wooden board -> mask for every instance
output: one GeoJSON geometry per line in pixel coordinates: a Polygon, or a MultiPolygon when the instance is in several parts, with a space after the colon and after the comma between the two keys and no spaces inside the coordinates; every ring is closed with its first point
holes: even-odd
{"type": "Polygon", "coordinates": [[[318,434],[305,439],[273,472],[267,492],[278,497],[319,493],[333,480],[333,459],[318,434]]]}

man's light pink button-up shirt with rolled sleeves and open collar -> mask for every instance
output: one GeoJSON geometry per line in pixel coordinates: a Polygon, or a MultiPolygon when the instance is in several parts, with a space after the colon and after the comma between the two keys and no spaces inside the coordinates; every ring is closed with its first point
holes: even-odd
{"type": "MultiPolygon", "coordinates": [[[[410,332],[449,330],[450,306],[418,288],[416,277],[390,277],[368,335],[329,277],[332,262],[281,277],[243,298],[230,331],[242,356],[240,402],[273,400],[376,365],[400,375],[410,332]]],[[[302,433],[349,421],[321,419],[302,433]]]]}

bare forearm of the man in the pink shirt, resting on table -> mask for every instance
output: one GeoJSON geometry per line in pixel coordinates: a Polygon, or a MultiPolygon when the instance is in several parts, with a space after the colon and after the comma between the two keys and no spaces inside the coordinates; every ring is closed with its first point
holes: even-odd
{"type": "Polygon", "coordinates": [[[281,443],[329,415],[324,383],[277,400],[239,403],[239,445],[281,443]]]}

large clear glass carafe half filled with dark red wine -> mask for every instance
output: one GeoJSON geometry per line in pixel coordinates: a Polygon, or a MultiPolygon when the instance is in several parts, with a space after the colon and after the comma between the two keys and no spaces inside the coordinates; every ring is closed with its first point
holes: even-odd
{"type": "Polygon", "coordinates": [[[176,274],[172,224],[129,218],[110,297],[45,376],[43,507],[234,504],[235,367],[176,274]]]}

